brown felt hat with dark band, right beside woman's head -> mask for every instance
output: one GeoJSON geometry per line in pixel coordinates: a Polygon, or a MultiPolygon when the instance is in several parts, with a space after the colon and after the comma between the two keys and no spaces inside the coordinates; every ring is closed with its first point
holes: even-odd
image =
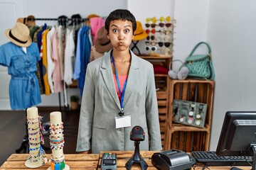
{"type": "Polygon", "coordinates": [[[97,32],[97,39],[95,41],[95,48],[97,52],[108,52],[112,48],[110,39],[107,38],[107,30],[102,26],[97,32]]]}

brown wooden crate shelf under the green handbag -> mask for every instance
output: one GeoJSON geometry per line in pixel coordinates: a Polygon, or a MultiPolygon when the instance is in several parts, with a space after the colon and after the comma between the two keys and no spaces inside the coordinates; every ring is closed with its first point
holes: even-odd
{"type": "Polygon", "coordinates": [[[210,143],[210,128],[213,114],[214,81],[174,80],[170,81],[169,113],[166,118],[164,149],[181,149],[185,152],[207,151],[210,143]],[[174,99],[207,103],[204,128],[173,123],[174,99]]]}

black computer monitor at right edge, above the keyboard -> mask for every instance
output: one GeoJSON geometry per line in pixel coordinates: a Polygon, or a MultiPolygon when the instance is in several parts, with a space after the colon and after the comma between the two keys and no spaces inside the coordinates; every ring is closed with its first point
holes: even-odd
{"type": "Polygon", "coordinates": [[[256,112],[228,111],[216,149],[221,156],[253,156],[256,145],[256,112]]]}

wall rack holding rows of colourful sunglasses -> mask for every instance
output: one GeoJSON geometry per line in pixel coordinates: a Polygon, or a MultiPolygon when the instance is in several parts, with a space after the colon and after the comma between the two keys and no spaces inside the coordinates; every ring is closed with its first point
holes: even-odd
{"type": "Polygon", "coordinates": [[[146,18],[146,33],[148,37],[145,41],[145,50],[150,56],[170,56],[173,52],[174,40],[174,20],[170,16],[157,19],[146,18]]]}

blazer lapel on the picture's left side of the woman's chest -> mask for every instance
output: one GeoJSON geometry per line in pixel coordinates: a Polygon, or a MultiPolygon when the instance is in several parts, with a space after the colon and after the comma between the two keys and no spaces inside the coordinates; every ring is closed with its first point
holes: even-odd
{"type": "Polygon", "coordinates": [[[117,96],[117,91],[114,87],[114,79],[110,62],[110,52],[107,52],[107,54],[103,56],[100,72],[102,73],[102,77],[105,81],[105,85],[107,86],[108,91],[110,92],[114,102],[117,104],[118,108],[121,111],[120,101],[117,96]]]}

